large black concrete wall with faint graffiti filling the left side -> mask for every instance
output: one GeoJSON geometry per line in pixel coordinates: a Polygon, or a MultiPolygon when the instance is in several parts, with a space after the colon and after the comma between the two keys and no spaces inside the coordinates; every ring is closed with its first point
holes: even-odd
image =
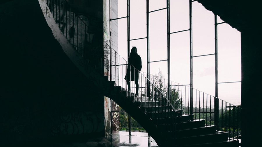
{"type": "Polygon", "coordinates": [[[82,56],[39,2],[45,3],[14,0],[0,5],[0,142],[105,136],[110,120],[105,97],[86,78],[82,56]]]}

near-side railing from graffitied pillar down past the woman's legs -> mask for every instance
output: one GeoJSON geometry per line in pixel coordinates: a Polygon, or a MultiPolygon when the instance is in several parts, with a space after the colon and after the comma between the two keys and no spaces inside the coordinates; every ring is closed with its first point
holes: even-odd
{"type": "MultiPolygon", "coordinates": [[[[132,83],[131,81],[131,92],[128,92],[127,82],[124,79],[127,74],[128,61],[114,51],[114,49],[112,49],[106,42],[104,42],[104,50],[107,50],[107,53],[109,53],[109,55],[105,55],[107,58],[104,58],[104,63],[109,65],[109,67],[105,67],[105,69],[110,69],[105,76],[108,75],[111,81],[115,81],[115,86],[118,86],[121,92],[125,92],[126,96],[134,98],[132,100],[137,102],[137,105],[145,113],[150,115],[155,123],[159,123],[159,121],[161,121],[163,124],[170,124],[164,125],[164,128],[162,129],[174,130],[174,128],[171,127],[175,127],[174,124],[178,123],[179,119],[169,120],[168,118],[179,115],[176,115],[175,107],[167,99],[167,92],[162,92],[159,89],[159,85],[156,85],[157,83],[149,80],[146,72],[139,72],[139,96],[134,97],[134,93],[136,93],[135,83],[132,83]]],[[[175,132],[173,137],[175,137],[175,132]]]]}

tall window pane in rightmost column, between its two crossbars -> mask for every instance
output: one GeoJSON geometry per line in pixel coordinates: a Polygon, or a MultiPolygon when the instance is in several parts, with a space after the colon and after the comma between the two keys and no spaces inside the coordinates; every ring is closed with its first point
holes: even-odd
{"type": "Polygon", "coordinates": [[[229,26],[217,26],[218,81],[241,81],[240,32],[229,26]]]}

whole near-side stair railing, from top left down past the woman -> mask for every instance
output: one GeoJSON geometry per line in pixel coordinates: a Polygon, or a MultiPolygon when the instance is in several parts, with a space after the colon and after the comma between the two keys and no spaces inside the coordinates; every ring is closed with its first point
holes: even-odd
{"type": "MultiPolygon", "coordinates": [[[[89,63],[94,65],[94,68],[101,72],[104,76],[109,76],[109,80],[115,81],[115,86],[118,86],[121,92],[126,92],[127,83],[124,80],[128,62],[118,55],[114,49],[112,49],[106,42],[104,42],[104,56],[103,57],[91,57],[86,55],[85,45],[92,43],[92,35],[88,32],[92,32],[88,28],[88,19],[84,16],[76,15],[72,12],[71,7],[65,0],[46,0],[47,6],[52,13],[57,25],[61,32],[65,35],[67,40],[73,45],[76,51],[89,63]]],[[[133,96],[135,85],[131,82],[132,92],[126,92],[127,96],[133,96]]],[[[137,105],[141,109],[151,115],[152,119],[156,122],[162,119],[162,122],[168,121],[168,117],[175,116],[175,108],[171,105],[167,99],[166,93],[162,93],[155,83],[147,79],[147,73],[139,73],[139,97],[133,99],[139,101],[137,105]],[[142,107],[144,105],[144,107],[142,107]],[[158,107],[157,107],[158,106],[158,107]],[[161,113],[161,115],[153,115],[160,112],[173,112],[167,116],[167,113],[161,113]]],[[[167,122],[165,122],[167,123],[167,122]]],[[[172,119],[169,124],[176,124],[176,120],[172,119]]],[[[168,127],[175,127],[175,125],[169,125],[168,127]]],[[[168,130],[167,126],[164,125],[162,129],[168,130]]],[[[170,129],[170,128],[169,128],[170,129]]],[[[174,130],[174,128],[173,128],[174,130]]],[[[175,137],[175,132],[173,133],[175,137]]]]}

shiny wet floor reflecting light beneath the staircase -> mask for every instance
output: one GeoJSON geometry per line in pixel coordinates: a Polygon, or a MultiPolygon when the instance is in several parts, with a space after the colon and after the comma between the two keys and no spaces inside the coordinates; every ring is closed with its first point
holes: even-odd
{"type": "Polygon", "coordinates": [[[119,132],[114,135],[108,135],[101,138],[90,138],[86,142],[72,142],[72,143],[59,143],[52,144],[57,147],[158,147],[152,137],[148,137],[144,132],[119,132]]]}

